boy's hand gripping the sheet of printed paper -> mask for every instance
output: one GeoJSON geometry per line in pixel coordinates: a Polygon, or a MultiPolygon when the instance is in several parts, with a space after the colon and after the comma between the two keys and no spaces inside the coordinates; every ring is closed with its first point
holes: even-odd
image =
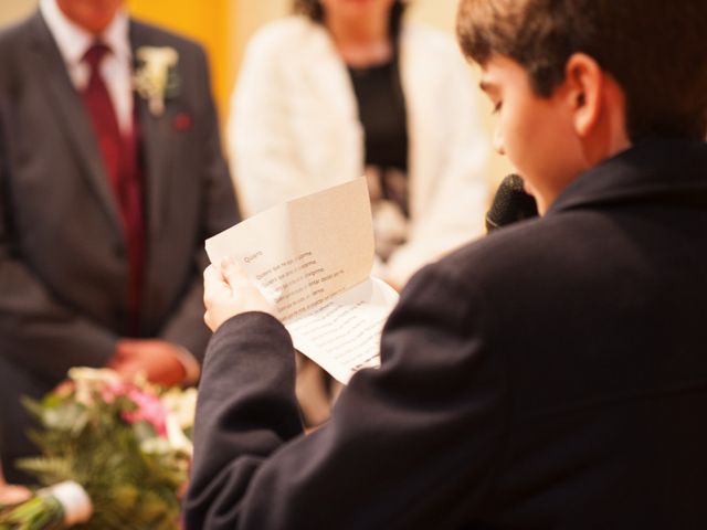
{"type": "Polygon", "coordinates": [[[210,265],[203,272],[203,303],[207,306],[203,319],[212,331],[242,312],[275,315],[275,308],[232,259],[224,259],[220,268],[210,265]]]}

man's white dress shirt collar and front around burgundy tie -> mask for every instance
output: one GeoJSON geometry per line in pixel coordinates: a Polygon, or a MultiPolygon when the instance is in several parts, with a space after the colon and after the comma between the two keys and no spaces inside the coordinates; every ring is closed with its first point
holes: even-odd
{"type": "Polygon", "coordinates": [[[56,0],[41,0],[40,11],[77,91],[82,92],[88,84],[91,68],[82,61],[88,47],[98,40],[110,49],[112,53],[101,63],[101,75],[113,100],[118,126],[123,134],[129,134],[133,128],[133,52],[127,13],[118,11],[110,25],[96,38],[72,22],[56,0]]]}

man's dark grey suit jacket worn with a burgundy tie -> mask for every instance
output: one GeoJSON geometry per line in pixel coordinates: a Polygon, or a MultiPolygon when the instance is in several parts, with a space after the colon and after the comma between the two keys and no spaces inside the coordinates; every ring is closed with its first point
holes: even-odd
{"type": "MultiPolygon", "coordinates": [[[[130,44],[179,53],[163,115],[137,98],[147,264],[140,335],[197,357],[204,237],[238,220],[201,47],[130,22],[130,44]]],[[[88,115],[39,13],[0,33],[0,455],[24,444],[19,394],[104,365],[127,317],[126,247],[88,115]]]]}

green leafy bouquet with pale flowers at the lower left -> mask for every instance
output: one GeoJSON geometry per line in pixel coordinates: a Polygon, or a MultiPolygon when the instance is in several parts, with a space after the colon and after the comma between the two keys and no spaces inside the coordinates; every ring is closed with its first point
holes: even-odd
{"type": "MultiPolygon", "coordinates": [[[[145,403],[140,396],[159,402],[157,391],[147,385],[118,390],[114,385],[114,393],[106,398],[105,388],[95,382],[88,390],[74,388],[52,393],[42,402],[25,402],[43,427],[31,433],[43,456],[23,459],[19,467],[43,486],[72,480],[83,487],[93,504],[93,516],[76,529],[179,528],[178,495],[187,483],[189,455],[171,447],[166,433],[158,434],[159,425],[128,421],[140,407],[138,403],[145,403]],[[140,393],[137,401],[136,392],[140,393]]],[[[64,528],[61,519],[61,505],[56,508],[42,496],[18,507],[0,507],[0,530],[64,528]]]]}

